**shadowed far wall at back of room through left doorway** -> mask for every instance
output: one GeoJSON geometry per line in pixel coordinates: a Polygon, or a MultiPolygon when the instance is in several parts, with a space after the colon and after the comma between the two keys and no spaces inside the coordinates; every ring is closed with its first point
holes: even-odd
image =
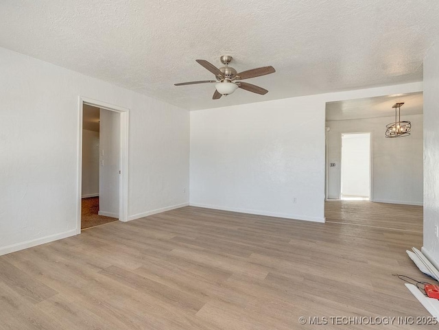
{"type": "Polygon", "coordinates": [[[82,198],[99,195],[99,132],[82,130],[82,198]]]}

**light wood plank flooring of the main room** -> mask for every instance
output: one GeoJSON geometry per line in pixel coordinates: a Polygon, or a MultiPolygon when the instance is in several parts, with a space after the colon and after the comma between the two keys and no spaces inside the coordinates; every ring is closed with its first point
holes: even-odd
{"type": "Polygon", "coordinates": [[[421,245],[416,231],[184,207],[0,257],[0,329],[413,329],[298,318],[428,316],[392,276],[426,279],[405,254],[421,245]]]}

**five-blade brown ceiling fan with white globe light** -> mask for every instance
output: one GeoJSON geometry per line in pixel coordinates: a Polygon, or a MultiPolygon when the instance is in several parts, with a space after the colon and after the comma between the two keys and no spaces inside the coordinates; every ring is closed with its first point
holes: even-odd
{"type": "Polygon", "coordinates": [[[192,85],[192,84],[204,84],[215,83],[215,93],[213,93],[213,99],[219,99],[222,95],[226,96],[239,89],[245,89],[246,91],[265,95],[268,93],[266,89],[256,86],[254,84],[248,84],[248,82],[241,82],[240,80],[259,77],[261,75],[268,75],[276,72],[274,67],[261,67],[257,69],[251,69],[237,73],[233,67],[229,67],[228,64],[232,60],[232,56],[224,55],[219,58],[224,64],[224,67],[217,68],[215,65],[207,62],[206,60],[196,60],[202,67],[208,69],[215,75],[217,80],[201,80],[198,82],[180,82],[175,86],[192,85]]]}

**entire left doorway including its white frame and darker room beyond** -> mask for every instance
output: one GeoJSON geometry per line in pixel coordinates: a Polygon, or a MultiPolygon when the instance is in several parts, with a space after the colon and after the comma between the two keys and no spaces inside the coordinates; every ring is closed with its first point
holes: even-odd
{"type": "Polygon", "coordinates": [[[77,233],[128,221],[128,109],[80,97],[77,233]]]}

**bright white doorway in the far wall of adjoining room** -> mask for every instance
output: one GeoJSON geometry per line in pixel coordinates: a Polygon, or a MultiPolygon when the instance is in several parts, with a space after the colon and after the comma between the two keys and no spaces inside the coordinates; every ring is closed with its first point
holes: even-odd
{"type": "Polygon", "coordinates": [[[370,200],[370,132],[342,134],[342,200],[370,200]]]}

